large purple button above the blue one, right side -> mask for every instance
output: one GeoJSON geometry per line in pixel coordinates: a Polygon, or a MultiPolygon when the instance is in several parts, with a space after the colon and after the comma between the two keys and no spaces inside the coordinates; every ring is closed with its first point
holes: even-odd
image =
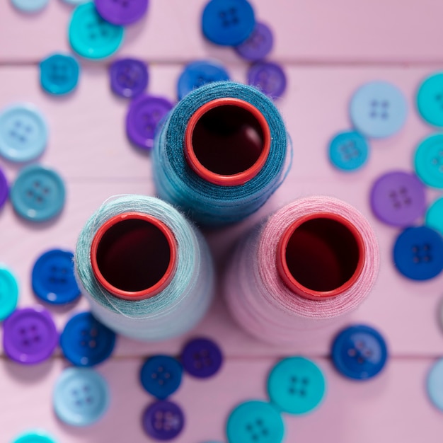
{"type": "Polygon", "coordinates": [[[412,173],[386,173],[372,186],[371,207],[381,222],[410,226],[425,214],[425,187],[412,173]]]}

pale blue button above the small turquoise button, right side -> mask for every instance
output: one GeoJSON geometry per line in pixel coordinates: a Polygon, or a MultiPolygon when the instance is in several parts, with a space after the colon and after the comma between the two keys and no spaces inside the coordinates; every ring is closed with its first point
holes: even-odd
{"type": "Polygon", "coordinates": [[[405,124],[408,105],[403,93],[386,81],[372,81],[357,89],[350,102],[355,129],[367,137],[395,134],[405,124]]]}

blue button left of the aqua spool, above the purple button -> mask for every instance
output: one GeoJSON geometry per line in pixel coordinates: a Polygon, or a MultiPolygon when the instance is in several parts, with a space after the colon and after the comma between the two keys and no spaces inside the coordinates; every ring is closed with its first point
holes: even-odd
{"type": "Polygon", "coordinates": [[[32,272],[33,291],[51,304],[71,303],[80,296],[74,277],[74,254],[52,249],[40,255],[32,272]]]}

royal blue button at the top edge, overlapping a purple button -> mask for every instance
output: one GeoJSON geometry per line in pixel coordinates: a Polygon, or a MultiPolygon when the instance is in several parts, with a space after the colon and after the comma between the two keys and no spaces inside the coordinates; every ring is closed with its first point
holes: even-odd
{"type": "Polygon", "coordinates": [[[203,10],[203,34],[217,45],[240,45],[254,28],[254,11],[246,0],[211,0],[203,10]]]}

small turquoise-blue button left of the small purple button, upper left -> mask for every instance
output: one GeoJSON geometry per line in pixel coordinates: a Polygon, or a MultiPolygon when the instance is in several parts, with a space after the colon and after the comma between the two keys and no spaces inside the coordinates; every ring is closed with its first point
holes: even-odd
{"type": "Polygon", "coordinates": [[[55,96],[67,94],[76,88],[79,71],[79,63],[71,55],[52,54],[40,62],[40,84],[55,96]]]}

